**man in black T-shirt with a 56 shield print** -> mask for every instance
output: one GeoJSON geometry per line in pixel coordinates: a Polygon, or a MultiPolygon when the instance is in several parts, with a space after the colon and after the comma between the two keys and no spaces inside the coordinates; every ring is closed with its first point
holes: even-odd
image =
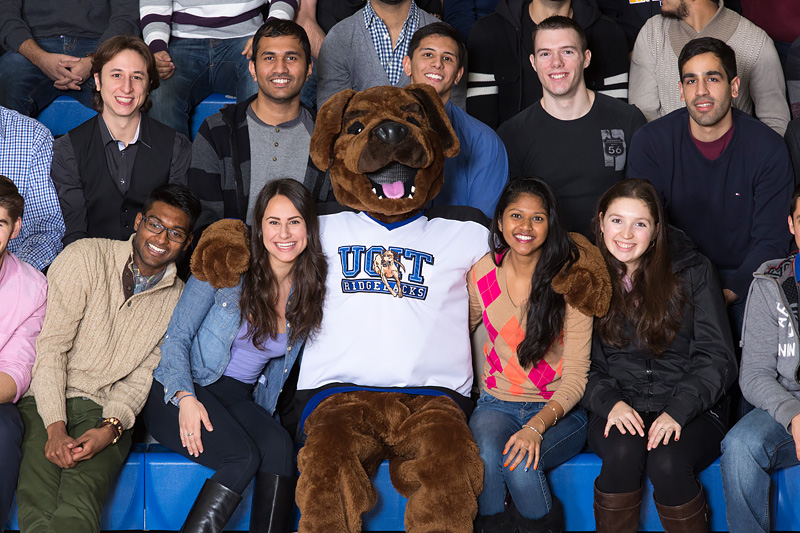
{"type": "Polygon", "coordinates": [[[567,229],[589,237],[597,200],[625,177],[631,138],[646,121],[635,106],[586,87],[584,69],[594,61],[586,46],[575,19],[540,21],[530,64],[543,96],[497,134],[508,151],[509,177],[544,178],[567,229]]]}

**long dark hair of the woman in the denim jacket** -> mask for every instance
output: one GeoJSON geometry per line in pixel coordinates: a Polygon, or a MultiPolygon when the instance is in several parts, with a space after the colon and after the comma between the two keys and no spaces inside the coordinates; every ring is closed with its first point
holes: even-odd
{"type": "Polygon", "coordinates": [[[306,249],[291,270],[293,292],[286,311],[286,320],[292,325],[289,344],[313,335],[319,329],[325,300],[328,262],[322,253],[319,220],[311,194],[302,183],[293,179],[271,181],[261,189],[256,199],[250,236],[250,268],[244,275],[239,301],[242,319],[248,321],[247,335],[258,348],[263,348],[268,338],[277,336],[280,317],[278,280],[269,264],[261,227],[267,204],[275,196],[285,196],[300,212],[306,223],[308,240],[306,249]]]}

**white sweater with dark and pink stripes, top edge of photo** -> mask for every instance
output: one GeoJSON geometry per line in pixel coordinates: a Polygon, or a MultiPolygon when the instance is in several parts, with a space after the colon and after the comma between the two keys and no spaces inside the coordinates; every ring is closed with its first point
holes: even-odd
{"type": "MultiPolygon", "coordinates": [[[[155,52],[169,48],[170,37],[182,39],[236,39],[249,37],[263,22],[267,0],[140,0],[142,37],[155,52]]],[[[271,0],[270,18],[291,20],[298,0],[271,0]]]]}

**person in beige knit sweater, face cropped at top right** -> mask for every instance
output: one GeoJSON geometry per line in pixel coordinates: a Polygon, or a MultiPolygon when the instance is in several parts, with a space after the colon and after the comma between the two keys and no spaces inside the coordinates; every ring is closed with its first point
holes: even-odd
{"type": "Polygon", "coordinates": [[[734,107],[748,114],[755,109],[762,122],[783,135],[790,117],[775,45],[764,30],[727,9],[723,0],[663,0],[661,15],[647,21],[633,48],[630,103],[647,120],[681,107],[675,86],[678,54],[700,37],[716,37],[736,52],[740,85],[734,107]]]}

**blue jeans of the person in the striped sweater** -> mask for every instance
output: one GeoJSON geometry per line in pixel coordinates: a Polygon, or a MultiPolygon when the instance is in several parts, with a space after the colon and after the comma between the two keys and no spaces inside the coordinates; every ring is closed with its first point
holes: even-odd
{"type": "Polygon", "coordinates": [[[150,96],[150,116],[189,136],[189,114],[211,93],[250,98],[258,85],[250,75],[250,60],[242,55],[249,37],[236,39],[172,39],[172,77],[150,96]]]}

